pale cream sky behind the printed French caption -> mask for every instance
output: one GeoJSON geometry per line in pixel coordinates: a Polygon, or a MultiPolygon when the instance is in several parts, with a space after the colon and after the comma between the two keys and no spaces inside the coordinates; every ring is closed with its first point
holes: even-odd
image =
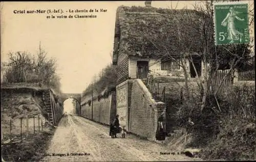
{"type": "MultiPolygon", "coordinates": [[[[192,9],[195,1],[152,1],[157,8],[192,9]]],[[[63,93],[82,93],[93,76],[112,62],[116,9],[144,6],[144,1],[114,2],[1,2],[1,62],[10,51],[36,53],[41,47],[57,60],[63,93]],[[14,14],[14,10],[62,10],[64,13],[14,14]],[[97,18],[56,18],[75,15],[69,10],[105,9],[97,18]],[[66,12],[67,11],[67,12],[66,12]],[[46,18],[55,15],[55,18],[46,18]]],[[[91,13],[78,13],[90,15],[91,13]]]]}

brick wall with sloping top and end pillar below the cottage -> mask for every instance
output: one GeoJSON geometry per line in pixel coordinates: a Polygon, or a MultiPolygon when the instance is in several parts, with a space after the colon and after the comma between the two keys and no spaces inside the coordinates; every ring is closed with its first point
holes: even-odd
{"type": "Polygon", "coordinates": [[[157,119],[165,111],[165,104],[156,102],[140,79],[135,79],[131,87],[129,131],[155,141],[157,119]]]}

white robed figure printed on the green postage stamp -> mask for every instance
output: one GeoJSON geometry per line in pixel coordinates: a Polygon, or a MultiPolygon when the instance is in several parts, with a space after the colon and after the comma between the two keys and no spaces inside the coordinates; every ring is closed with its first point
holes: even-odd
{"type": "Polygon", "coordinates": [[[239,13],[241,13],[241,12],[234,11],[233,7],[230,7],[229,13],[221,22],[222,26],[227,26],[227,34],[228,34],[227,39],[230,40],[229,43],[233,43],[235,40],[239,40],[239,39],[241,41],[241,39],[242,39],[243,33],[239,32],[236,29],[236,26],[234,24],[235,18],[240,21],[244,21],[244,19],[237,16],[239,13]]]}

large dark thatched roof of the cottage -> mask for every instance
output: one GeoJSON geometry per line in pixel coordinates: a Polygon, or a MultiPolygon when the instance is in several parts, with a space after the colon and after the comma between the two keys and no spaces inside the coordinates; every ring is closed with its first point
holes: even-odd
{"type": "MultiPolygon", "coordinates": [[[[117,63],[120,52],[145,58],[159,55],[167,49],[173,55],[179,55],[178,28],[183,45],[189,46],[191,42],[200,40],[201,36],[193,29],[195,24],[199,24],[196,21],[199,20],[199,16],[200,14],[195,10],[118,7],[115,36],[120,37],[119,42],[116,40],[114,42],[113,64],[117,63]],[[195,21],[192,22],[191,19],[195,21]],[[156,45],[166,49],[157,48],[156,45]]],[[[197,27],[200,28],[199,25],[197,27]]],[[[198,41],[197,44],[200,45],[200,42],[198,41]]],[[[193,48],[193,51],[198,52],[195,45],[193,48]]]]}

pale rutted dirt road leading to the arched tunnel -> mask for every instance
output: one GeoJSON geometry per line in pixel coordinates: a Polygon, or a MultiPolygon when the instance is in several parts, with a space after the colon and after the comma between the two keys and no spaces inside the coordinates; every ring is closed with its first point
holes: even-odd
{"type": "Polygon", "coordinates": [[[185,155],[161,155],[171,152],[158,143],[132,134],[112,139],[109,127],[75,115],[60,120],[42,161],[191,161],[185,155]],[[54,155],[53,155],[54,154],[54,155]]]}

